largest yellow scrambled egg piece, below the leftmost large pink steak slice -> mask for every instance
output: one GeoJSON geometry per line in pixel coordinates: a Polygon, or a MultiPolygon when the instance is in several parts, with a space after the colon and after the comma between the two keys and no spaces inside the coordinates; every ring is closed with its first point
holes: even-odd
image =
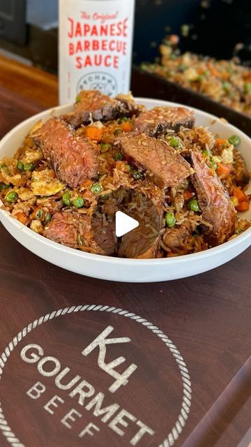
{"type": "Polygon", "coordinates": [[[36,196],[53,196],[64,189],[64,184],[55,178],[52,169],[46,168],[33,172],[31,189],[36,196]]]}

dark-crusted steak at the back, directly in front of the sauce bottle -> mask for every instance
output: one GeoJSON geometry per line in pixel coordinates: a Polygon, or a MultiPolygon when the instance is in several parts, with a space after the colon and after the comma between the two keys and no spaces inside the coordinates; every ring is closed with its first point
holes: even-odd
{"type": "Polygon", "coordinates": [[[82,90],[77,95],[75,110],[62,118],[78,127],[93,121],[107,122],[122,116],[139,115],[142,108],[142,105],[135,104],[130,94],[109,98],[98,90],[82,90]]]}

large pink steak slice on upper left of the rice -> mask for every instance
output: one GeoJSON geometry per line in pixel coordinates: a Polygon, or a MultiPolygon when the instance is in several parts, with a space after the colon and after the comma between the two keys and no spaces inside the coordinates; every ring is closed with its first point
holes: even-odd
{"type": "Polygon", "coordinates": [[[98,173],[98,149],[89,138],[76,135],[66,122],[49,119],[32,139],[50,161],[56,176],[75,188],[98,173]]]}

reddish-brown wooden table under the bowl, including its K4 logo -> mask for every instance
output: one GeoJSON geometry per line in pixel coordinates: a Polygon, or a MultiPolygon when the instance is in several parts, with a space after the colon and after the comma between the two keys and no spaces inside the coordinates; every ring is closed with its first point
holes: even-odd
{"type": "MultiPolygon", "coordinates": [[[[0,59],[1,136],[56,102],[54,76],[0,59]]],[[[121,284],[57,268],[2,226],[0,244],[1,446],[250,445],[250,249],[121,284]]]]}

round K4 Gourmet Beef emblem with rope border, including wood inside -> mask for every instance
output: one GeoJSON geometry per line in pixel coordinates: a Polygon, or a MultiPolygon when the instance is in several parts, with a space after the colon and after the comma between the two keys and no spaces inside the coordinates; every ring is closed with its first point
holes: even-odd
{"type": "Polygon", "coordinates": [[[0,444],[15,447],[169,447],[190,412],[190,376],[172,340],[105,305],[34,320],[1,354],[0,379],[0,444]]]}

